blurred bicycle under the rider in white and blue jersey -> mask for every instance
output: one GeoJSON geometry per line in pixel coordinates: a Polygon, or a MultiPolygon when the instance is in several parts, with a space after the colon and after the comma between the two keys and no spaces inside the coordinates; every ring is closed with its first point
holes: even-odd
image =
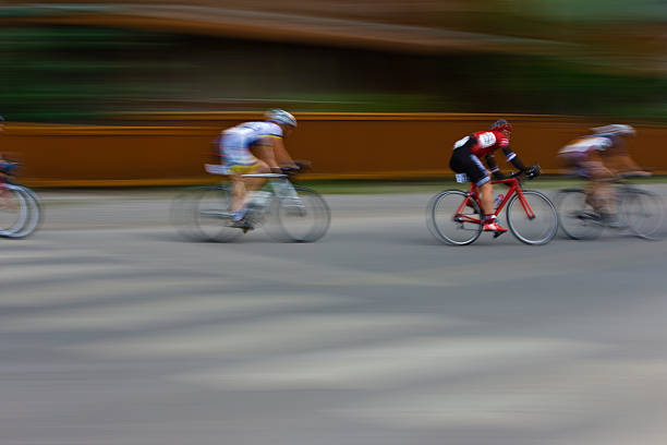
{"type": "MultiPolygon", "coordinates": [[[[207,165],[207,171],[221,175],[221,166],[207,165]]],[[[202,187],[185,192],[174,200],[172,222],[189,239],[229,242],[266,225],[275,239],[288,242],[314,242],[329,229],[331,215],[326,201],[314,190],[294,185],[298,171],[282,169],[281,173],[243,175],[269,181],[255,192],[247,204],[243,225],[232,220],[231,187],[202,187]]]]}

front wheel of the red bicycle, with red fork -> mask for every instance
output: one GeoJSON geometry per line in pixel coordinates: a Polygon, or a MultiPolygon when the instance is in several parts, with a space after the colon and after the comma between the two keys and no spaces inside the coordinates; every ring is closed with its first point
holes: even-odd
{"type": "Polygon", "coordinates": [[[543,193],[524,190],[525,208],[519,194],[507,204],[507,225],[519,241],[531,245],[546,244],[558,231],[558,215],[551,201],[543,193]],[[532,211],[532,215],[529,212],[532,211]]]}

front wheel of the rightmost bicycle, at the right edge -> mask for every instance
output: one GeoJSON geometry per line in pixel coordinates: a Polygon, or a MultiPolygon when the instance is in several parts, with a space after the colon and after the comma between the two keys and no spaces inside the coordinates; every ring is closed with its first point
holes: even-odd
{"type": "Polygon", "coordinates": [[[639,189],[622,192],[619,216],[639,238],[658,240],[665,237],[665,206],[660,196],[639,189]]]}

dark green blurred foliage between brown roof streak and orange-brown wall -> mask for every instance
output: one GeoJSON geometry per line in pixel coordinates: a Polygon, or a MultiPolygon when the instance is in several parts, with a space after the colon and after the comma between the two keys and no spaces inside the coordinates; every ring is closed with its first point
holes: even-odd
{"type": "Polygon", "coordinates": [[[667,77],[562,55],[404,52],[78,25],[0,27],[0,115],[530,112],[667,119],[667,77]]]}

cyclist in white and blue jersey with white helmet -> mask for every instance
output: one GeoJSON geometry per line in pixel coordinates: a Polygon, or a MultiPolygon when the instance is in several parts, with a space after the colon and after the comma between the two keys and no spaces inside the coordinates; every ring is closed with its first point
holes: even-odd
{"type": "Polygon", "coordinates": [[[266,120],[244,122],[222,131],[219,153],[223,159],[222,172],[232,180],[233,222],[244,227],[248,192],[258,190],[265,178],[243,178],[245,173],[281,172],[280,165],[299,169],[287,149],[283,140],[296,128],[296,119],[289,112],[271,109],[266,120]]]}

